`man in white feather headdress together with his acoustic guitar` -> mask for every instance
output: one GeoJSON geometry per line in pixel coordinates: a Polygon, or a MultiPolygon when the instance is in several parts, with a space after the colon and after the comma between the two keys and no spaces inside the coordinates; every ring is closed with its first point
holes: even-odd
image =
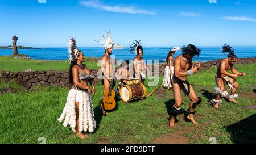
{"type": "Polygon", "coordinates": [[[105,54],[101,57],[101,72],[104,76],[102,84],[104,85],[104,97],[101,100],[102,112],[104,115],[108,114],[106,110],[113,110],[115,108],[115,91],[113,86],[115,85],[115,70],[114,62],[110,55],[112,54],[114,42],[109,32],[101,37],[105,45],[105,54]]]}

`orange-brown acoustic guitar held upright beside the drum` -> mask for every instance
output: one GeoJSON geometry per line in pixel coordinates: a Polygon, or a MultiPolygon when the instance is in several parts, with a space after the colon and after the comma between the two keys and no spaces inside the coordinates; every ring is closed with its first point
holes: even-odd
{"type": "Polygon", "coordinates": [[[109,90],[104,91],[104,97],[101,107],[104,110],[113,110],[115,108],[115,91],[112,89],[113,83],[110,82],[109,90]]]}

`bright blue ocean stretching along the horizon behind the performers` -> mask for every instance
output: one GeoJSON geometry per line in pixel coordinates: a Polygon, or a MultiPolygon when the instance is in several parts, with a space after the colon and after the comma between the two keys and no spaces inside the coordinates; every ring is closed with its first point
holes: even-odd
{"type": "MultiPolygon", "coordinates": [[[[233,47],[235,54],[238,58],[245,57],[255,57],[256,56],[256,46],[246,46],[246,47],[233,47]]],[[[79,48],[84,52],[85,57],[101,57],[104,54],[104,49],[101,47],[91,47],[91,48],[79,48]]],[[[209,61],[217,60],[220,58],[225,58],[220,50],[221,47],[199,47],[201,49],[201,54],[199,57],[195,56],[193,61],[209,61]]],[[[169,47],[144,47],[143,58],[145,60],[159,60],[159,62],[165,62],[169,47]]],[[[135,53],[131,54],[128,52],[129,48],[125,49],[113,49],[112,57],[117,60],[133,60],[135,53]]],[[[7,56],[13,53],[12,49],[0,49],[0,56],[7,56]]],[[[31,59],[36,60],[67,60],[68,59],[68,48],[45,48],[45,49],[18,49],[18,53],[24,55],[30,55],[31,59]]],[[[174,57],[180,55],[180,51],[177,51],[174,57]]],[[[150,63],[150,62],[149,62],[150,63]]]]}

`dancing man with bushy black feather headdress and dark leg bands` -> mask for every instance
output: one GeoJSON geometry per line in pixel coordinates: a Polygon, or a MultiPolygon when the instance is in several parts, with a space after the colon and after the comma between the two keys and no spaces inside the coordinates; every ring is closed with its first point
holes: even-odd
{"type": "Polygon", "coordinates": [[[191,121],[193,124],[198,123],[194,119],[195,108],[200,103],[200,99],[197,97],[195,90],[188,83],[187,76],[197,73],[201,65],[198,62],[196,66],[192,66],[192,58],[199,56],[200,49],[195,45],[189,44],[187,47],[184,46],[181,51],[181,55],[177,56],[174,60],[174,77],[172,78],[172,87],[174,93],[175,104],[171,108],[171,117],[169,126],[174,127],[176,116],[183,113],[184,110],[181,108],[182,98],[181,90],[183,90],[185,96],[191,99],[189,109],[185,112],[185,119],[191,121]]]}

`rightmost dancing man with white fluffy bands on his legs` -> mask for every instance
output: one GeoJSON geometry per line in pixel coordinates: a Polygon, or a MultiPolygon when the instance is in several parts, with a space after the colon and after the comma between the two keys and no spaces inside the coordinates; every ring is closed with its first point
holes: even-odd
{"type": "Polygon", "coordinates": [[[229,90],[231,90],[231,93],[229,95],[229,101],[232,103],[237,103],[234,98],[237,98],[238,95],[236,94],[236,91],[239,87],[238,83],[236,82],[236,78],[238,76],[245,76],[245,73],[240,73],[236,70],[234,67],[234,63],[237,61],[237,56],[234,54],[234,49],[230,47],[229,45],[223,45],[222,47],[222,53],[228,52],[228,58],[224,58],[220,61],[217,73],[215,75],[215,82],[218,87],[214,88],[216,90],[216,99],[213,99],[210,101],[210,104],[216,109],[218,109],[218,104],[222,103],[221,97],[228,97],[228,91],[224,91],[224,85],[228,84],[229,90]],[[231,70],[231,73],[228,71],[231,70]]]}

